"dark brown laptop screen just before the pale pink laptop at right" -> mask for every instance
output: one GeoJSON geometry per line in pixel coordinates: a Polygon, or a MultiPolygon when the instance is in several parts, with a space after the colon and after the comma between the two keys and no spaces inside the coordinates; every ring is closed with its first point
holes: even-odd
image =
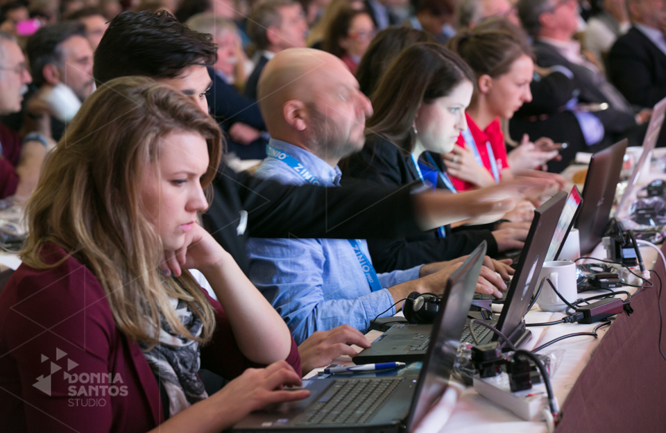
{"type": "Polygon", "coordinates": [[[623,139],[592,155],[583,187],[583,206],[576,221],[581,239],[581,256],[590,254],[604,235],[627,143],[623,139]]]}

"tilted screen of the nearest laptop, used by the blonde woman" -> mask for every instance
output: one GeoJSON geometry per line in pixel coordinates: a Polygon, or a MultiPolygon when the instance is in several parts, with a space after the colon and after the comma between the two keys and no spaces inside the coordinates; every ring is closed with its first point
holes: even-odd
{"type": "Polygon", "coordinates": [[[486,241],[483,241],[447,281],[411,402],[406,424],[408,432],[420,423],[446,390],[485,255],[486,241]]]}

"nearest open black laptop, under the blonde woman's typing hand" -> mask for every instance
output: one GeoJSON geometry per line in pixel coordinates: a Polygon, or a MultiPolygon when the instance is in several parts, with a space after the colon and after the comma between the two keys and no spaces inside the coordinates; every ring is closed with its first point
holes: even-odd
{"type": "Polygon", "coordinates": [[[418,364],[411,364],[398,374],[377,371],[303,380],[303,387],[310,391],[309,398],[255,411],[232,430],[298,433],[314,430],[413,431],[448,386],[484,255],[485,241],[447,281],[440,312],[430,325],[433,343],[418,375],[418,364]]]}

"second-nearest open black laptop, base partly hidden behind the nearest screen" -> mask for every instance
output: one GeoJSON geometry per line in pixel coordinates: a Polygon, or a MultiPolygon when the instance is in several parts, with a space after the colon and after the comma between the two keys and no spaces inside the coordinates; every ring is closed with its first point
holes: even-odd
{"type": "MultiPolygon", "coordinates": [[[[524,316],[538,283],[545,255],[553,238],[559,217],[565,205],[567,193],[558,192],[546,203],[534,211],[534,218],[523,253],[520,255],[518,269],[513,275],[507,290],[506,303],[498,321],[488,321],[504,333],[515,346],[521,346],[529,340],[531,332],[525,326],[524,316]]],[[[427,350],[427,336],[430,325],[393,325],[381,337],[376,339],[370,348],[356,355],[354,362],[366,364],[373,362],[408,362],[421,359],[427,350]]],[[[497,337],[488,332],[483,325],[472,325],[479,343],[494,341],[497,337]],[[477,329],[477,327],[480,327],[477,329]]],[[[431,337],[432,338],[432,337],[431,337]]],[[[473,343],[469,324],[461,336],[462,343],[473,343]]]]}

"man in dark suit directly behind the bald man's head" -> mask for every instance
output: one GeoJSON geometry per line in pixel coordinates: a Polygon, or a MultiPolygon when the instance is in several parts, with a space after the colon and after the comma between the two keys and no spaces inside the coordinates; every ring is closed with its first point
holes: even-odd
{"type": "Polygon", "coordinates": [[[245,96],[257,99],[257,83],[264,66],[287,48],[305,48],[307,22],[295,0],[266,0],[258,3],[248,19],[248,35],[257,47],[255,69],[245,84],[245,96]]]}

